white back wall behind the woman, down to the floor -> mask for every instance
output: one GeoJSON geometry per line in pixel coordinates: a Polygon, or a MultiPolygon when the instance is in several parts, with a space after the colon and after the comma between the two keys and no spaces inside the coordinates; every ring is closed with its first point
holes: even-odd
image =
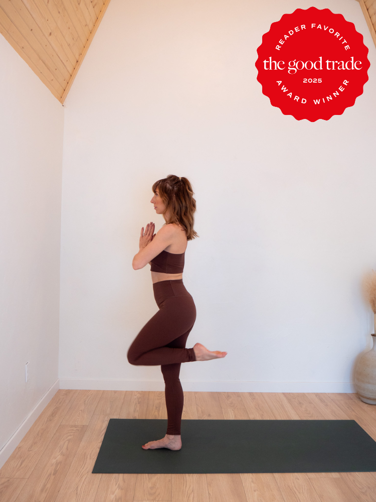
{"type": "MultiPolygon", "coordinates": [[[[65,109],[60,369],[67,388],[159,389],[126,351],[157,310],[139,229],[152,183],[191,179],[184,282],[198,310],[186,390],[349,391],[376,267],[376,51],[354,0],[112,0],[65,109]],[[256,49],[296,8],[329,8],[370,49],[369,81],[329,121],[297,121],[256,81],[256,49]]],[[[154,382],[157,381],[157,382],[154,382]]]]}

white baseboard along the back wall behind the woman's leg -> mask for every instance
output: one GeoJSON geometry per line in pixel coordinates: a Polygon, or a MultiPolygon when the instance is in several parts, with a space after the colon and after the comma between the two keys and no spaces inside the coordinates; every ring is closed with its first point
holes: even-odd
{"type": "MultiPolygon", "coordinates": [[[[195,392],[355,392],[353,382],[199,382],[182,380],[195,392]]],[[[163,391],[162,380],[60,379],[60,389],[100,391],[163,391]]]]}

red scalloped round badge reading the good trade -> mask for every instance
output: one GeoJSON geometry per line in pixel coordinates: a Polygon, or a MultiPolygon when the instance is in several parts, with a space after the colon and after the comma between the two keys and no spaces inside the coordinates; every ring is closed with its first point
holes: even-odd
{"type": "Polygon", "coordinates": [[[342,14],[329,9],[284,14],[263,35],[257,53],[263,94],[297,120],[341,115],[368,80],[363,36],[342,14]]]}

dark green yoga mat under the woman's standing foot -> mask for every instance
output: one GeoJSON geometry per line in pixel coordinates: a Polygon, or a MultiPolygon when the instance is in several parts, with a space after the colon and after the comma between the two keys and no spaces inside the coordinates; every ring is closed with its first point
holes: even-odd
{"type": "Polygon", "coordinates": [[[181,450],[143,450],[166,425],[110,419],[93,472],[376,471],[376,442],[354,420],[183,420],[181,450]]]}

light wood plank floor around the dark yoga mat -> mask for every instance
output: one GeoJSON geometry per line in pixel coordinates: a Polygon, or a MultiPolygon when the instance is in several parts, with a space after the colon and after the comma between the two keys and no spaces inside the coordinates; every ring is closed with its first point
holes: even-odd
{"type": "MultiPolygon", "coordinates": [[[[186,419],[354,419],[376,440],[376,406],[362,403],[356,394],[184,396],[186,419]]],[[[0,470],[1,502],[376,501],[375,472],[92,474],[110,418],[166,418],[164,395],[58,391],[0,470]]]]}

